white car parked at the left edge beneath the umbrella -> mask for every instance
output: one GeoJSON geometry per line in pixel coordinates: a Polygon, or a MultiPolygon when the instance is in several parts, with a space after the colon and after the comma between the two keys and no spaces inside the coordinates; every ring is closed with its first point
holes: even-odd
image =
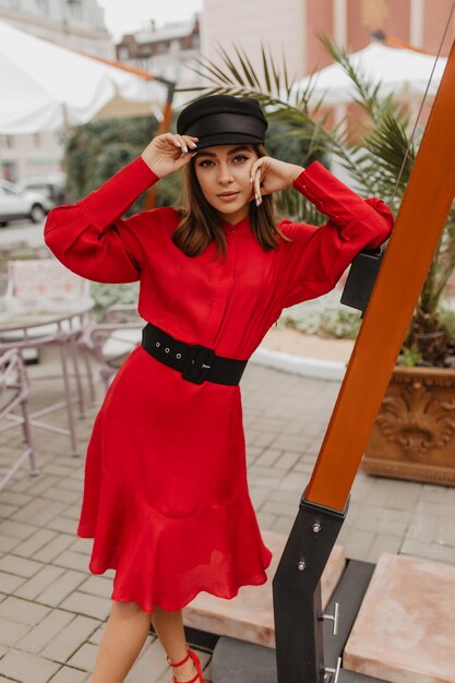
{"type": "Polygon", "coordinates": [[[44,220],[52,204],[40,192],[21,191],[12,182],[0,180],[0,227],[16,218],[44,220]]]}

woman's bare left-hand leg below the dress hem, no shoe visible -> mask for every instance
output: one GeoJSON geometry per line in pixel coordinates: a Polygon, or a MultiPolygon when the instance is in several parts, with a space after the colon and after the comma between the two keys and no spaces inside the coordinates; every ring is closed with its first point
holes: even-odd
{"type": "Polygon", "coordinates": [[[135,602],[112,600],[91,683],[123,683],[147,637],[151,615],[135,602]]]}

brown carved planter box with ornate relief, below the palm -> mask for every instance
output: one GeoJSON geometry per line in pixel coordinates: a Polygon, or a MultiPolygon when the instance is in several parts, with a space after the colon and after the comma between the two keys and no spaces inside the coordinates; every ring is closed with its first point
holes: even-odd
{"type": "Polygon", "coordinates": [[[455,370],[395,368],[367,444],[363,469],[455,486],[455,370]]]}

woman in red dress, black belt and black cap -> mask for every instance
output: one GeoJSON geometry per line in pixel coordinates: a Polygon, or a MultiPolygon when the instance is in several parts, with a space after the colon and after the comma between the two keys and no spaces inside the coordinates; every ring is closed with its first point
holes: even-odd
{"type": "Polygon", "coordinates": [[[46,242],[70,269],[105,283],[141,280],[143,345],[118,372],[88,445],[77,535],[89,568],[116,570],[93,683],[120,683],[149,621],[173,681],[202,682],[182,608],[205,590],[232,598],[266,580],[248,492],[239,380],[282,309],[330,291],[393,218],[320,164],[265,155],[253,99],[203,98],[177,134],[155,137],[81,202],[53,209],[46,242]],[[188,208],[121,219],[159,178],[184,168],[188,208]],[[328,215],[316,228],[282,220],[272,196],[292,187],[328,215]]]}

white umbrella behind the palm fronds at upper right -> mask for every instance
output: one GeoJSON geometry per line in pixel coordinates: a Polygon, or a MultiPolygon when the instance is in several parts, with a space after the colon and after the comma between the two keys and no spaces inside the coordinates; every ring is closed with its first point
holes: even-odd
{"type": "MultiPolygon", "coordinates": [[[[394,94],[400,99],[422,96],[435,57],[417,50],[388,47],[381,43],[371,43],[359,52],[349,56],[349,61],[359,73],[374,83],[381,83],[381,97],[394,94]]],[[[440,57],[431,80],[429,95],[436,94],[447,59],[440,57]]],[[[352,101],[356,88],[345,70],[338,63],[332,64],[299,81],[296,88],[314,84],[311,101],[323,98],[324,105],[339,105],[352,101]]]]}

